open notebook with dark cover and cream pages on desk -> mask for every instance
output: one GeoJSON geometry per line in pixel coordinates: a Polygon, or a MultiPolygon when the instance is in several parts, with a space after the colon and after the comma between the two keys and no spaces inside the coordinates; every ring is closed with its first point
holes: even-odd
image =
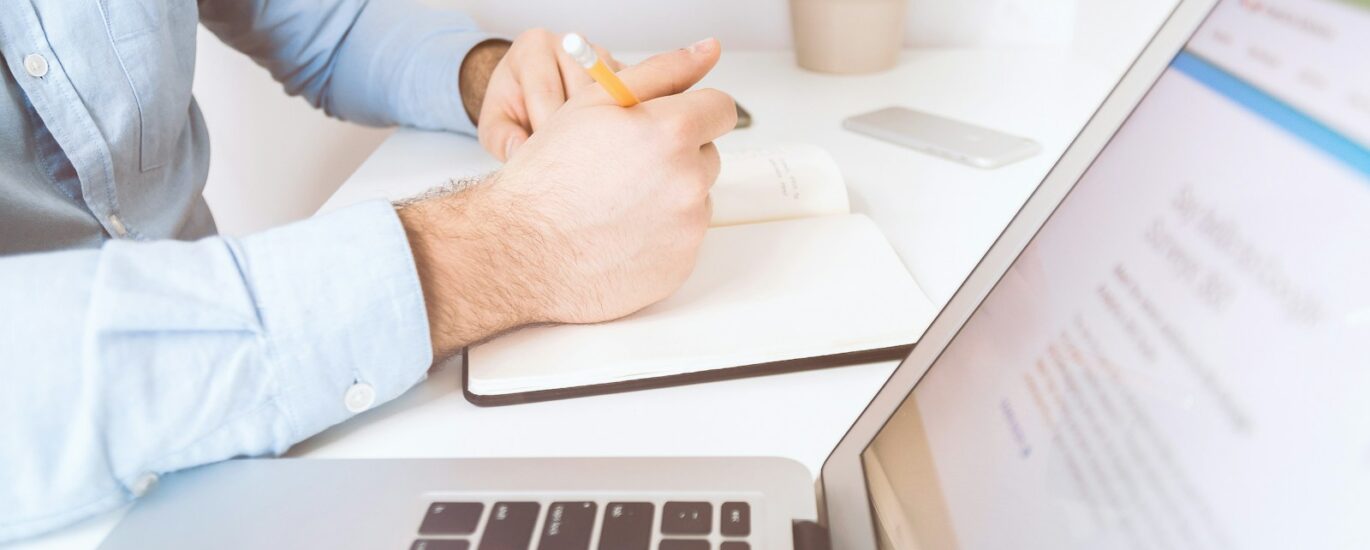
{"type": "Polygon", "coordinates": [[[936,309],[825,151],[725,154],[712,228],[674,295],[595,325],[523,328],[466,351],[466,396],[507,405],[897,359],[936,309]]]}

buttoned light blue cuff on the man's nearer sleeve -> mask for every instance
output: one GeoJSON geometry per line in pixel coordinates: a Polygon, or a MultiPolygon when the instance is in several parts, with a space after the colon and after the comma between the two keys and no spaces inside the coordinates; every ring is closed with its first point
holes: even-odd
{"type": "Polygon", "coordinates": [[[356,204],[240,243],[290,444],[426,376],[427,310],[389,203],[356,204]]]}

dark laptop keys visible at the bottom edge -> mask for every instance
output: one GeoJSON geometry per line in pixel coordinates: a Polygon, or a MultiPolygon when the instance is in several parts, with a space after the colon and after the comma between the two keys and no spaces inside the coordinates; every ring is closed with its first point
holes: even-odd
{"type": "Polygon", "coordinates": [[[653,540],[751,550],[751,510],[743,501],[433,502],[410,550],[652,550],[653,540]]]}

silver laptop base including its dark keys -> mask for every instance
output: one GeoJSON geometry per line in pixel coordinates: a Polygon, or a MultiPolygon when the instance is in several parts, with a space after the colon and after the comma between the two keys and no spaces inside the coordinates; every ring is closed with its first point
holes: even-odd
{"type": "Polygon", "coordinates": [[[100,549],[789,549],[815,518],[784,458],[238,459],[166,476],[100,549]]]}

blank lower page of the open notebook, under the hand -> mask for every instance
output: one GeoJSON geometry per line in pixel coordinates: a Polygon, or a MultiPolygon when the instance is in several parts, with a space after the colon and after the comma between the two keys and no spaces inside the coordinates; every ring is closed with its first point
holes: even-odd
{"type": "Polygon", "coordinates": [[[936,310],[875,225],[830,215],[710,229],[669,299],[473,347],[467,391],[507,395],[911,344],[936,310]]]}

